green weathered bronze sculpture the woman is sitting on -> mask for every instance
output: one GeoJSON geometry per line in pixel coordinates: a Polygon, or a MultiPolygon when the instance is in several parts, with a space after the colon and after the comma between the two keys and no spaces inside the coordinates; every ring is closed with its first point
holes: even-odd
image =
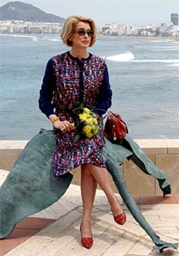
{"type": "MultiPolygon", "coordinates": [[[[20,153],[12,170],[0,187],[0,239],[8,236],[16,223],[26,216],[47,208],[65,193],[73,175],[67,173],[54,177],[51,170],[51,158],[55,149],[52,130],[40,129],[20,153]]],[[[160,252],[167,247],[177,249],[178,243],[167,243],[160,240],[140,212],[130,191],[125,184],[125,178],[119,164],[125,157],[134,161],[141,170],[155,177],[163,195],[171,193],[170,184],[162,170],[158,169],[129,136],[125,136],[122,145],[113,144],[106,139],[102,149],[107,170],[112,175],[115,185],[132,216],[155,243],[154,248],[160,252]]]]}

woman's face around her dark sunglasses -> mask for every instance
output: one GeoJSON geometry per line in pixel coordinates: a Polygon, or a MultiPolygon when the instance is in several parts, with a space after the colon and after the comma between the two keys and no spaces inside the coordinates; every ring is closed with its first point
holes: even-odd
{"type": "MultiPolygon", "coordinates": [[[[74,31],[78,30],[91,30],[90,24],[87,22],[79,21],[74,31]]],[[[87,33],[80,36],[78,33],[73,33],[73,35],[69,38],[72,41],[72,47],[77,48],[87,48],[90,46],[92,37],[88,36],[87,33]]]]}

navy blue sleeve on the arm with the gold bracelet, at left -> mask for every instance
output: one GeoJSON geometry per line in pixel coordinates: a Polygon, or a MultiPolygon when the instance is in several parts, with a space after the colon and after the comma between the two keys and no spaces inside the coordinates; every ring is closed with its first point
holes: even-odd
{"type": "Polygon", "coordinates": [[[46,64],[45,74],[43,77],[42,86],[40,89],[40,96],[38,99],[39,109],[47,117],[51,114],[54,114],[54,107],[52,105],[53,92],[54,92],[54,70],[52,60],[48,60],[46,64]]]}

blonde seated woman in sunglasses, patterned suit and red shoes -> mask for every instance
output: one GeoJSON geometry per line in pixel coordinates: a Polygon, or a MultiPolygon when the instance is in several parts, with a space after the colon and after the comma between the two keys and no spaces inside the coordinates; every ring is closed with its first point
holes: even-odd
{"type": "Polygon", "coordinates": [[[115,222],[123,225],[126,216],[112,191],[100,153],[105,146],[102,118],[98,118],[97,134],[74,143],[77,130],[67,109],[73,110],[83,101],[87,108],[102,117],[111,106],[112,90],[105,61],[87,52],[87,48],[96,41],[94,21],[82,16],[70,16],[64,23],[61,39],[71,50],[48,60],[38,103],[54,128],[63,133],[55,136],[56,148],[51,160],[54,176],[64,175],[81,165],[81,243],[90,248],[93,245],[91,211],[97,183],[107,196],[115,222]]]}

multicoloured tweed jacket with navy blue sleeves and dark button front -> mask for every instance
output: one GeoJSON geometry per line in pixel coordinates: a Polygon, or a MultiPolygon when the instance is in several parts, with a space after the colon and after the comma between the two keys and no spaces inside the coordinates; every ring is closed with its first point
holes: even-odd
{"type": "Polygon", "coordinates": [[[102,115],[111,106],[112,90],[105,61],[91,53],[88,58],[72,56],[70,51],[48,60],[43,78],[39,108],[48,117],[74,109],[83,101],[102,115]],[[101,109],[101,110],[99,110],[101,109]]]}

